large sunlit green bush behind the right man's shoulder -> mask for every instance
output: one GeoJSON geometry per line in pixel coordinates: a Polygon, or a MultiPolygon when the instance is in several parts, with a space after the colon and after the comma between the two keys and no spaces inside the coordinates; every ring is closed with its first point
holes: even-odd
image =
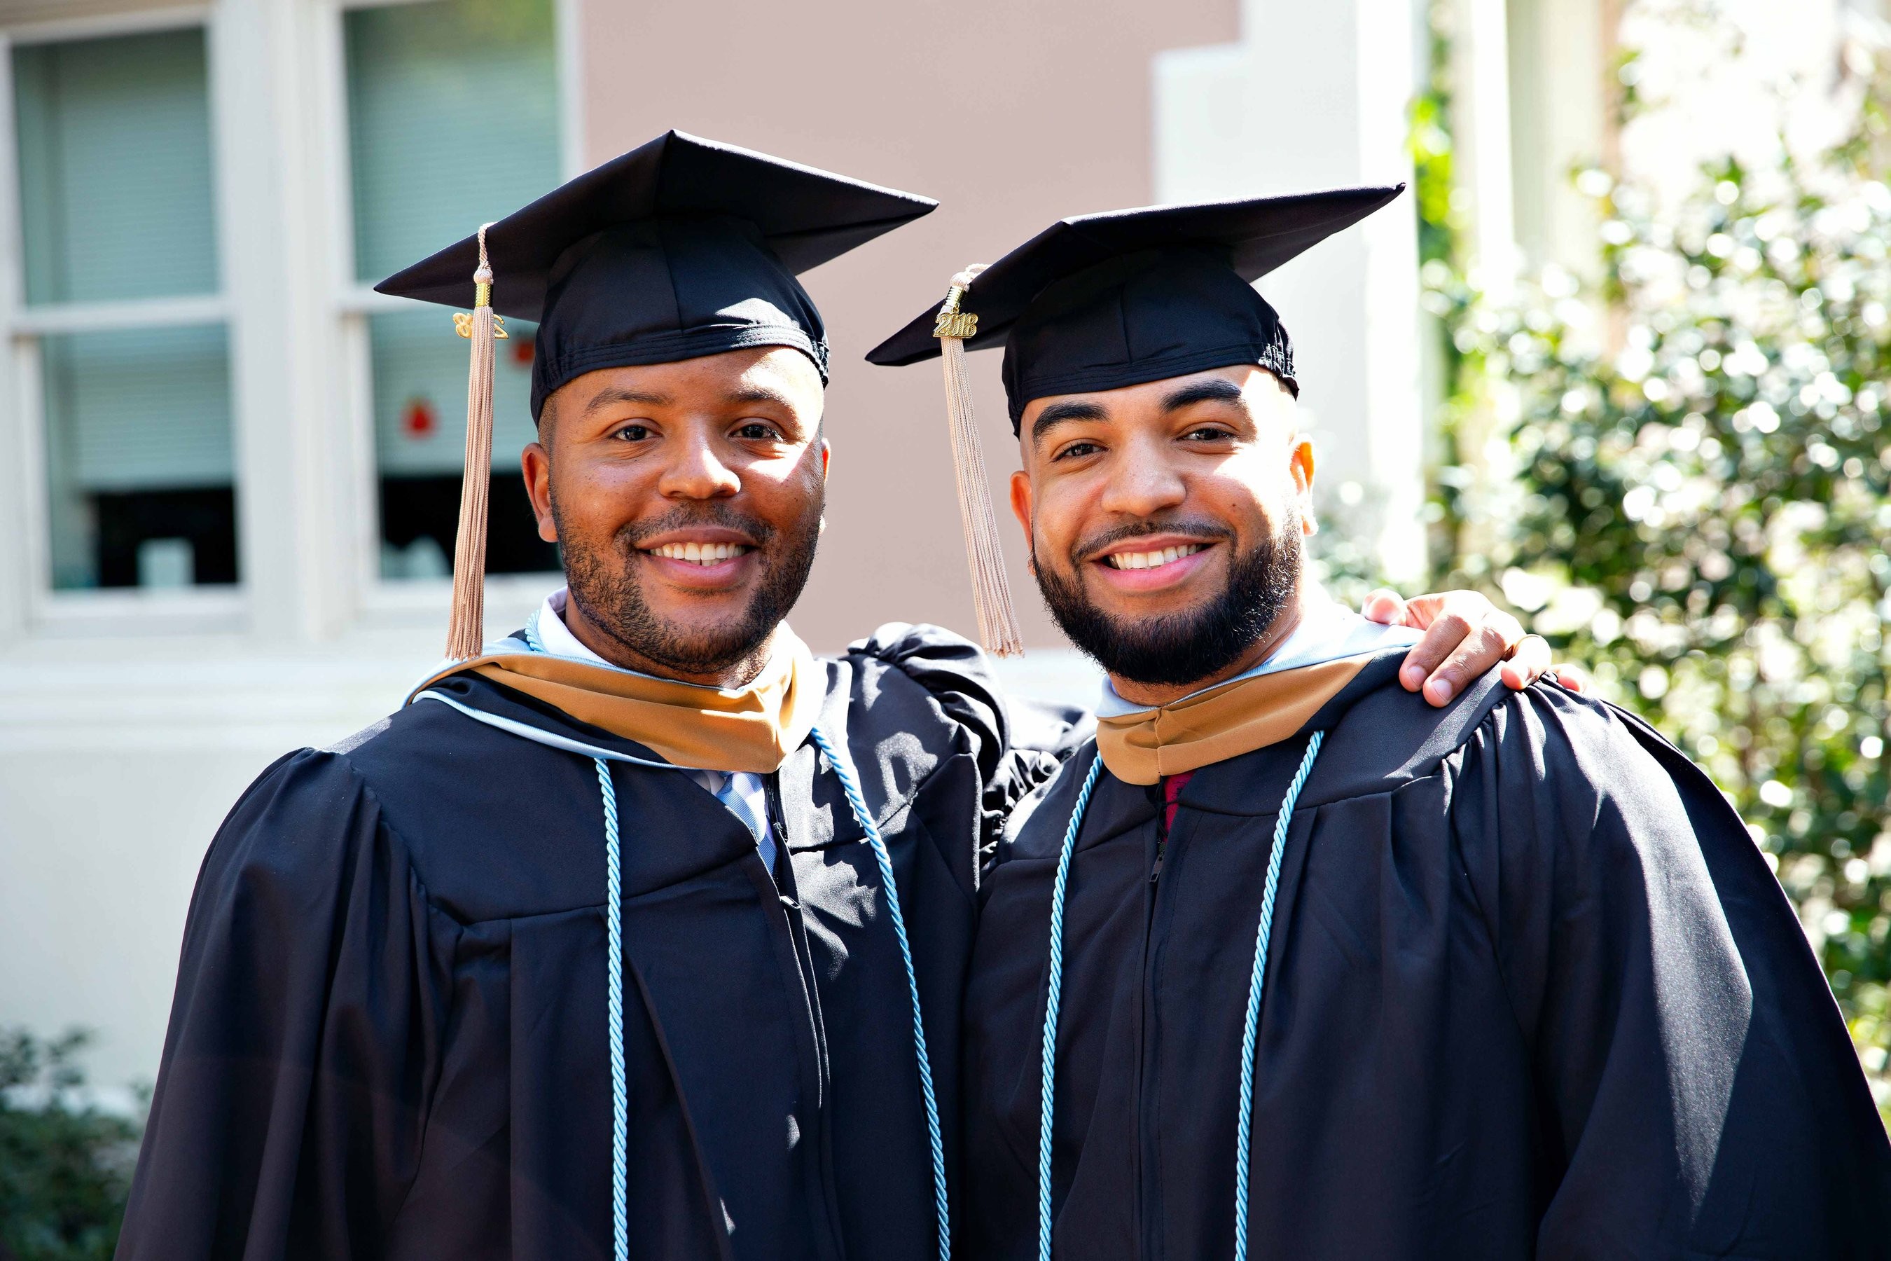
{"type": "Polygon", "coordinates": [[[1447,433],[1498,401],[1515,416],[1479,495],[1460,493],[1479,471],[1439,475],[1439,571],[1501,588],[1708,768],[1891,1117],[1887,100],[1868,85],[1830,153],[1721,161],[1674,204],[1581,172],[1602,212],[1590,293],[1549,268],[1500,308],[1450,250],[1424,285],[1462,365],[1447,433]]]}

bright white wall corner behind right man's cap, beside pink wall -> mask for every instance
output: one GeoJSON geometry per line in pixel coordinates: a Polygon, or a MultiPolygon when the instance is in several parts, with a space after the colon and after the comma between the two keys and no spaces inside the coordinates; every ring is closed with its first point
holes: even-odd
{"type": "MultiPolygon", "coordinates": [[[[1155,195],[1411,181],[1407,0],[1244,0],[1240,42],[1155,59],[1155,195]]],[[[1411,195],[1259,282],[1293,337],[1320,480],[1356,484],[1394,579],[1424,571],[1418,244],[1411,195]]]]}

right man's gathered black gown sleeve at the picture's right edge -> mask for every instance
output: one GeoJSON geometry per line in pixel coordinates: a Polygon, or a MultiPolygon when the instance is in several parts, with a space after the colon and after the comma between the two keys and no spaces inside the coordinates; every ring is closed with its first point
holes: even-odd
{"type": "Polygon", "coordinates": [[[1883,1125],[1713,783],[1638,718],[1547,684],[1443,773],[1534,1057],[1537,1255],[1883,1255],[1883,1125]]]}

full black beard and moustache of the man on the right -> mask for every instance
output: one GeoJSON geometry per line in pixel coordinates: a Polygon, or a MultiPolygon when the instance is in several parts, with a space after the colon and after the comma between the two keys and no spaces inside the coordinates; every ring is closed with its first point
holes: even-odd
{"type": "MultiPolygon", "coordinates": [[[[1273,535],[1235,554],[1227,586],[1206,605],[1159,618],[1123,620],[1089,603],[1082,577],[1087,561],[1072,558],[1070,579],[1042,561],[1032,569],[1044,603],[1070,643],[1112,675],[1150,686],[1178,686],[1233,665],[1293,603],[1301,577],[1299,529],[1299,510],[1290,510],[1273,535]]],[[[1154,533],[1174,533],[1174,526],[1150,522],[1110,543],[1154,533]]],[[[1220,537],[1233,546],[1233,537],[1223,531],[1182,533],[1220,537]]],[[[1097,543],[1087,546],[1093,550],[1097,543]]]]}

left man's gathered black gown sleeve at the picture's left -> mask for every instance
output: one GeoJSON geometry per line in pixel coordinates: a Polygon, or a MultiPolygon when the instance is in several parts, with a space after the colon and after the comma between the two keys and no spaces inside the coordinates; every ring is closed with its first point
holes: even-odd
{"type": "Polygon", "coordinates": [[[197,879],[119,1261],[380,1255],[452,940],[344,756],[269,768],[197,879]]]}

